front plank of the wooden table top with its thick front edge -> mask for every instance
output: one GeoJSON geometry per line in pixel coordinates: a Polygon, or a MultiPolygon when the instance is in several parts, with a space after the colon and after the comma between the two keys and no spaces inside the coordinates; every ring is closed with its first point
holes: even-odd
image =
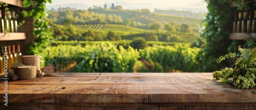
{"type": "Polygon", "coordinates": [[[255,93],[228,84],[9,84],[8,102],[255,103],[255,93]]]}

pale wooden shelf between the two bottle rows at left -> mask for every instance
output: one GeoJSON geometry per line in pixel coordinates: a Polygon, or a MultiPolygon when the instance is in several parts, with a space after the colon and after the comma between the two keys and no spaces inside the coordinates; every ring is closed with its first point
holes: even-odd
{"type": "Polygon", "coordinates": [[[0,33],[0,41],[5,40],[24,40],[26,39],[25,33],[0,33]]]}

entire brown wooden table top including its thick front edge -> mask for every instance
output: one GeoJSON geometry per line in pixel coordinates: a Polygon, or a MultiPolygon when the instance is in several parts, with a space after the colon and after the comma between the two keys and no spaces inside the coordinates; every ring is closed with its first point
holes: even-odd
{"type": "MultiPolygon", "coordinates": [[[[1,82],[4,97],[3,77],[1,82]]],[[[9,80],[8,102],[256,103],[256,87],[239,90],[212,73],[52,73],[9,80]]]]}

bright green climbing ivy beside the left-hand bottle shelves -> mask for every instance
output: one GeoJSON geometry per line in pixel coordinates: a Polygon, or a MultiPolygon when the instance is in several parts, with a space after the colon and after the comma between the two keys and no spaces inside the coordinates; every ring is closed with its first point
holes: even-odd
{"type": "MultiPolygon", "coordinates": [[[[53,39],[52,32],[48,26],[46,3],[52,3],[51,0],[23,0],[23,7],[28,10],[22,11],[24,18],[33,17],[34,30],[33,35],[35,41],[29,44],[28,54],[41,55],[42,51],[50,46],[50,41],[53,39]]],[[[44,59],[41,59],[41,66],[44,64],[44,59]]]]}

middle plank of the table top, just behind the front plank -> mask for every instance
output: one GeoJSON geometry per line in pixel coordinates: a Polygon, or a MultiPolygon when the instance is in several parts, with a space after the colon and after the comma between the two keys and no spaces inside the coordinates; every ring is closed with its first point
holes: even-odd
{"type": "Polygon", "coordinates": [[[88,77],[42,77],[28,80],[10,81],[8,84],[222,84],[215,79],[200,77],[114,77],[114,76],[88,76],[88,77]]]}

